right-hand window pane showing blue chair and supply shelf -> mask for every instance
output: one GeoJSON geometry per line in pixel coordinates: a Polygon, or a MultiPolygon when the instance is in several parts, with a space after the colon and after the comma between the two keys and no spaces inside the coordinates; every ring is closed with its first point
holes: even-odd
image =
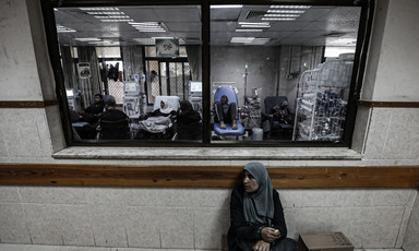
{"type": "Polygon", "coordinates": [[[360,10],[212,5],[212,143],[342,141],[360,10]]]}

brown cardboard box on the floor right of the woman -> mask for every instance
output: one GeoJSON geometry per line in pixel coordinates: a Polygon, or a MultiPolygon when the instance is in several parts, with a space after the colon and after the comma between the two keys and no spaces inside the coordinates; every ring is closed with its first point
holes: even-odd
{"type": "Polygon", "coordinates": [[[342,232],[300,234],[298,251],[354,251],[354,246],[342,232]]]}

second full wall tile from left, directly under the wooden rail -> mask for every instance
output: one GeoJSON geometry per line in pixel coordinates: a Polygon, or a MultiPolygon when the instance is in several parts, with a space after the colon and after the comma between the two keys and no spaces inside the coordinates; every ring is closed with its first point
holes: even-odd
{"type": "Polygon", "coordinates": [[[86,191],[91,205],[154,206],[159,189],[91,188],[86,191]]]}

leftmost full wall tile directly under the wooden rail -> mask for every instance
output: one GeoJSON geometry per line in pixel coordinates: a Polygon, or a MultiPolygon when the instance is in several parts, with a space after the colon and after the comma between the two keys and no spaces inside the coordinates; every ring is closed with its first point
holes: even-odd
{"type": "Polygon", "coordinates": [[[85,192],[89,189],[73,187],[20,187],[23,203],[86,204],[85,192]]]}

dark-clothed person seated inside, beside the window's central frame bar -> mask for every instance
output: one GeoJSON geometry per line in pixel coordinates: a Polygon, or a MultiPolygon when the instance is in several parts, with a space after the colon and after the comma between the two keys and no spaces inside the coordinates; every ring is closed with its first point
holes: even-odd
{"type": "Polygon", "coordinates": [[[178,140],[201,140],[201,115],[195,111],[188,100],[180,101],[180,108],[176,116],[178,140]]]}

